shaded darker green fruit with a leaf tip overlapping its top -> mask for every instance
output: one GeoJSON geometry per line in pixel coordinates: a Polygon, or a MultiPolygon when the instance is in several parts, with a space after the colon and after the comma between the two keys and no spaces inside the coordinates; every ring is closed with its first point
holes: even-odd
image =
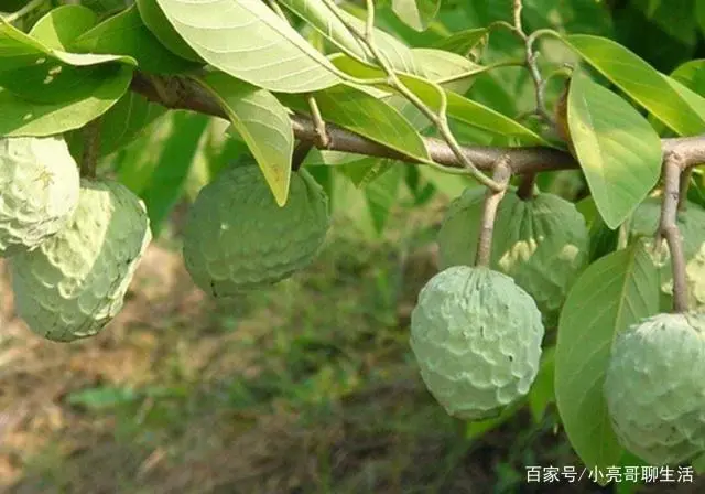
{"type": "Polygon", "coordinates": [[[232,297],[306,267],[328,224],[328,198],[305,170],[292,173],[289,200],[280,207],[257,164],[239,164],[194,202],[184,229],[184,262],[204,291],[232,297]]]}

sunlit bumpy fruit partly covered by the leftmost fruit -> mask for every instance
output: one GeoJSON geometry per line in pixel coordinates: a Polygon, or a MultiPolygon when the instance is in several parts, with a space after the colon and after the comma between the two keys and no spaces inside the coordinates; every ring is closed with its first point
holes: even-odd
{"type": "Polygon", "coordinates": [[[122,309],[151,238],[144,204],[130,190],[82,180],[70,223],[37,249],[10,259],[18,314],[48,340],[98,333],[122,309]]]}

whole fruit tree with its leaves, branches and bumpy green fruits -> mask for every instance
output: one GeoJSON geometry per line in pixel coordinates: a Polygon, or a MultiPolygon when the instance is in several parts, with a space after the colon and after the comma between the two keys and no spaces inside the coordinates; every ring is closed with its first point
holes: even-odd
{"type": "Polygon", "coordinates": [[[0,256],[34,333],[109,331],[182,196],[214,298],[305,270],[332,213],[375,234],[445,196],[409,327],[440,406],[555,401],[589,469],[705,466],[705,1],[0,11],[0,256]]]}

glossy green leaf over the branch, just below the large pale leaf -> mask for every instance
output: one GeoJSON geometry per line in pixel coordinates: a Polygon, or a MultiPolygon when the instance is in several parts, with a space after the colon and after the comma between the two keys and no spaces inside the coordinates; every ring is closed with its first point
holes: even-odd
{"type": "MultiPolygon", "coordinates": [[[[429,150],[413,126],[391,106],[347,85],[338,85],[314,94],[326,121],[352,130],[376,142],[421,161],[430,161],[429,150]]],[[[308,111],[300,96],[280,96],[291,108],[308,111]]]]}

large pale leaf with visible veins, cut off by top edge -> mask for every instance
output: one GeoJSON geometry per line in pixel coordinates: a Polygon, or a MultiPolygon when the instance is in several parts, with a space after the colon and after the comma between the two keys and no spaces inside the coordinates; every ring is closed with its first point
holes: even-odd
{"type": "Polygon", "coordinates": [[[186,43],[226,74],[282,93],[313,92],[339,82],[330,62],[264,2],[156,2],[186,43]]]}

